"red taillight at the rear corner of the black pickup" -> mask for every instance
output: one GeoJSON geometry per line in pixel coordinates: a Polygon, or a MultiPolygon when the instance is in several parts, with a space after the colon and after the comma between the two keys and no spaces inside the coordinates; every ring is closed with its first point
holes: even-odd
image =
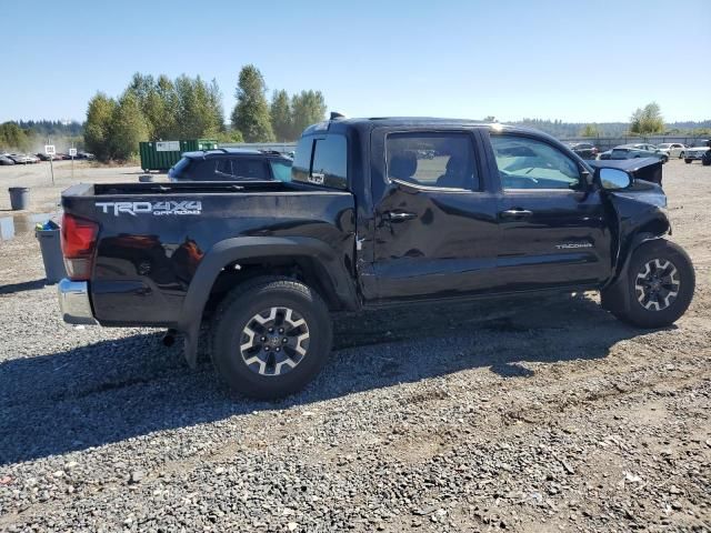
{"type": "Polygon", "coordinates": [[[82,281],[91,276],[99,224],[64,213],[62,218],[62,254],[71,280],[82,281]]]}

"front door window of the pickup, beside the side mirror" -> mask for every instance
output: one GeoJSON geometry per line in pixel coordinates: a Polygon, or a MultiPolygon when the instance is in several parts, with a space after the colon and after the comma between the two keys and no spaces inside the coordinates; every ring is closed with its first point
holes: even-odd
{"type": "Polygon", "coordinates": [[[501,187],[511,189],[578,189],[580,169],[557,148],[527,137],[492,134],[491,145],[501,187]]]}

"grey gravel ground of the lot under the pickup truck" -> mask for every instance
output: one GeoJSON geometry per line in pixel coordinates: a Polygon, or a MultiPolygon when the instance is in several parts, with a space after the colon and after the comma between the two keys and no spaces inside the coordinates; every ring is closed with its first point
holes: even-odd
{"type": "Polygon", "coordinates": [[[63,324],[34,239],[0,241],[0,531],[711,531],[711,169],[664,173],[675,326],[593,293],[343,316],[277,403],[160,332],[63,324]]]}

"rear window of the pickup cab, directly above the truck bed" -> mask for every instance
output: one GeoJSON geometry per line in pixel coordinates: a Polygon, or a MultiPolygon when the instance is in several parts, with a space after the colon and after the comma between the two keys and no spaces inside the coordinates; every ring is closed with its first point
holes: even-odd
{"type": "Polygon", "coordinates": [[[348,143],[346,138],[343,135],[327,135],[313,140],[311,138],[302,139],[297,147],[291,175],[293,181],[331,189],[348,189],[348,143]]]}

